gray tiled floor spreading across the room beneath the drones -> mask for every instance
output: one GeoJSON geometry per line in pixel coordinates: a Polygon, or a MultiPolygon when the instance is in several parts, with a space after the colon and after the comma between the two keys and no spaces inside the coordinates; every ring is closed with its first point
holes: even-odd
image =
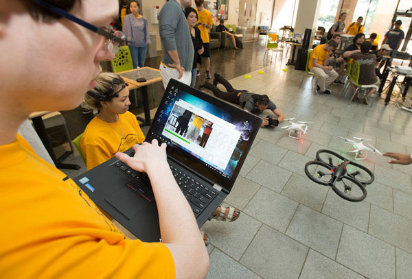
{"type": "MultiPolygon", "coordinates": [[[[339,86],[331,87],[332,95],[313,95],[309,81],[299,88],[304,72],[284,66],[285,59],[263,66],[264,47],[254,43],[243,51],[238,77],[233,68],[212,71],[233,78],[236,88],[267,93],[286,117],[314,123],[301,140],[279,128],[259,131],[225,199],[240,208],[240,217],[203,226],[211,239],[207,278],[412,278],[412,166],[369,154],[362,164],[374,171],[375,182],[360,203],[341,199],[304,173],[318,149],[349,156],[337,136],[362,136],[381,151],[411,153],[412,114],[385,107],[382,99],[371,108],[348,105],[339,86]]],[[[228,67],[239,66],[238,53],[219,55],[228,67]]],[[[68,160],[82,164],[78,156],[68,160]]]]}

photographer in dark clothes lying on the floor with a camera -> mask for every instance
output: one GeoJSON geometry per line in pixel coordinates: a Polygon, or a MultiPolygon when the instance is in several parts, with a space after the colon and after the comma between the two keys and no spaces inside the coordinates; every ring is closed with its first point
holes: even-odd
{"type": "MultiPolygon", "coordinates": [[[[225,101],[229,101],[229,103],[231,104],[240,105],[244,110],[256,115],[262,114],[264,110],[271,110],[277,116],[277,120],[274,119],[275,121],[271,123],[272,127],[275,127],[279,123],[282,123],[282,121],[284,121],[285,119],[284,114],[282,114],[279,108],[277,108],[276,105],[273,104],[273,101],[271,101],[267,95],[259,95],[250,93],[248,92],[248,90],[235,89],[219,73],[214,74],[213,84],[205,82],[199,85],[199,89],[201,88],[211,90],[211,92],[213,92],[216,97],[224,99],[225,101]],[[227,92],[223,92],[217,87],[219,83],[225,86],[227,92]]],[[[260,125],[260,127],[268,127],[268,125],[269,118],[266,117],[263,119],[262,125],[260,125]]]]}

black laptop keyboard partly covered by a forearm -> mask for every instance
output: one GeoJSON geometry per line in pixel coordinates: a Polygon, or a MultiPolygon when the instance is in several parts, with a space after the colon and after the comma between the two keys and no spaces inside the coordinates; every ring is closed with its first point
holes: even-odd
{"type": "MultiPolygon", "coordinates": [[[[135,191],[149,202],[155,200],[155,196],[150,188],[150,181],[146,173],[134,171],[120,161],[117,161],[113,166],[120,171],[124,171],[124,173],[130,178],[133,178],[133,180],[127,183],[127,186],[131,190],[135,191]]],[[[183,195],[185,195],[187,202],[189,202],[192,207],[194,215],[199,215],[203,209],[207,207],[207,204],[209,204],[209,202],[211,202],[211,200],[218,194],[218,192],[210,186],[207,186],[195,178],[192,178],[191,175],[188,175],[184,171],[173,167],[172,165],[170,166],[170,169],[173,173],[174,179],[183,192],[183,195]]]]}

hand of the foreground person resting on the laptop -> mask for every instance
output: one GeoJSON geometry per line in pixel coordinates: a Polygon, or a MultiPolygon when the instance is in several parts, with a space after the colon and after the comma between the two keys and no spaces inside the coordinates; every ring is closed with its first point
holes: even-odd
{"type": "Polygon", "coordinates": [[[166,146],[165,143],[159,146],[157,140],[154,139],[152,143],[145,141],[141,145],[133,145],[132,148],[135,151],[135,156],[133,157],[121,152],[117,152],[115,156],[135,171],[150,173],[156,171],[159,166],[164,164],[168,165],[168,161],[166,160],[166,146]]]}

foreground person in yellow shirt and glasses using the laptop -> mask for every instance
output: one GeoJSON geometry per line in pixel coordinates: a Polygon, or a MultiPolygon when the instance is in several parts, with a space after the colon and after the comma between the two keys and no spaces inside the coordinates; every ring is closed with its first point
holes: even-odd
{"type": "Polygon", "coordinates": [[[134,145],[133,158],[116,154],[150,178],[162,243],[145,243],[122,234],[73,180],[17,134],[30,113],[72,110],[94,87],[100,61],[113,59],[124,43],[121,33],[107,32],[118,2],[3,3],[0,49],[22,55],[0,51],[0,61],[13,65],[1,72],[0,87],[1,277],[205,278],[209,256],[164,143],[134,145]],[[22,29],[30,32],[22,36],[22,29]]]}

